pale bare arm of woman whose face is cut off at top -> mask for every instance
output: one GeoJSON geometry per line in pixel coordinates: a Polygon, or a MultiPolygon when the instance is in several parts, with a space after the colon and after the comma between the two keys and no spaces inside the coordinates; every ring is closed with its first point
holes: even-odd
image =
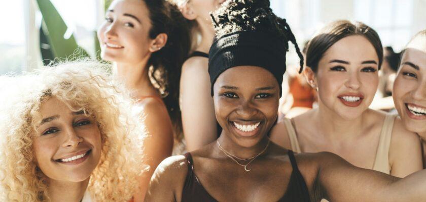
{"type": "Polygon", "coordinates": [[[188,151],[218,137],[207,63],[207,59],[195,57],[188,59],[182,67],[180,106],[188,151]]]}

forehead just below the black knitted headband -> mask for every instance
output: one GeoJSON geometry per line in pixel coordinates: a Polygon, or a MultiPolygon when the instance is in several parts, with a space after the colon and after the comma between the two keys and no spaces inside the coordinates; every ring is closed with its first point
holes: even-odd
{"type": "Polygon", "coordinates": [[[216,83],[232,86],[275,86],[276,78],[268,70],[257,66],[238,66],[219,75],[216,83]]]}

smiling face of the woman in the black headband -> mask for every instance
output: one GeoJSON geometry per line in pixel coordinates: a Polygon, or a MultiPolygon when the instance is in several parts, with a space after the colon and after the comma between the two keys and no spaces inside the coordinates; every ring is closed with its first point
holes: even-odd
{"type": "Polygon", "coordinates": [[[223,72],[214,84],[216,119],[223,134],[243,147],[257,144],[275,123],[279,87],[267,70],[239,66],[223,72]]]}

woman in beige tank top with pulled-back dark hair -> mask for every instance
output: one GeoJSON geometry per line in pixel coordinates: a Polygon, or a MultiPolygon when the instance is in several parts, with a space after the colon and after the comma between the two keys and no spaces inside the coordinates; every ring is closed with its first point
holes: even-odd
{"type": "Polygon", "coordinates": [[[383,48],[363,23],[336,21],[309,42],[305,75],[318,108],[283,119],[271,140],[297,153],[329,151],[351,164],[405,177],[421,167],[420,144],[394,115],[371,110],[383,48]]]}

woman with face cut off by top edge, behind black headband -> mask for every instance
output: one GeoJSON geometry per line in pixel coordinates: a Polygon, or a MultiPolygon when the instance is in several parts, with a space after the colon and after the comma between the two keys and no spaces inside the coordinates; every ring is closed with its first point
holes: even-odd
{"type": "Polygon", "coordinates": [[[215,11],[224,0],[168,1],[180,8],[193,32],[193,52],[182,67],[180,89],[186,148],[192,151],[215,141],[221,130],[216,122],[213,100],[208,93],[207,53],[215,37],[209,13],[215,11]]]}

